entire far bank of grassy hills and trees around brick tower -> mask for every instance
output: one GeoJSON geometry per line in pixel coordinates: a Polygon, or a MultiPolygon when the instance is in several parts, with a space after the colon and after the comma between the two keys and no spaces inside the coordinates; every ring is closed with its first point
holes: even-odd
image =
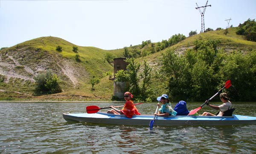
{"type": "Polygon", "coordinates": [[[115,50],[76,46],[58,37],[36,38],[1,48],[0,99],[110,101],[113,58],[126,57],[130,71],[115,77],[126,78],[127,90],[137,101],[155,101],[163,93],[171,100],[204,101],[227,80],[233,86],[224,91],[232,100],[256,101],[256,42],[246,36],[254,38],[254,31],[255,21],[247,20],[239,27],[191,31],[189,37],[175,34],[115,50]],[[58,46],[61,51],[56,51],[58,46]],[[35,79],[47,70],[56,74],[62,92],[35,96],[35,79]]]}

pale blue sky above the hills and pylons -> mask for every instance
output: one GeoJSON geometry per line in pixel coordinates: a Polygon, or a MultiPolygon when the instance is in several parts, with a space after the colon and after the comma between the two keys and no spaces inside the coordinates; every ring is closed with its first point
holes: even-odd
{"type": "MultiPolygon", "coordinates": [[[[0,0],[0,48],[38,37],[60,37],[106,50],[161,42],[201,31],[195,9],[207,0],[0,0]]],[[[256,0],[209,0],[205,28],[256,18],[256,0]]],[[[201,10],[203,10],[201,8],[201,10]]]]}

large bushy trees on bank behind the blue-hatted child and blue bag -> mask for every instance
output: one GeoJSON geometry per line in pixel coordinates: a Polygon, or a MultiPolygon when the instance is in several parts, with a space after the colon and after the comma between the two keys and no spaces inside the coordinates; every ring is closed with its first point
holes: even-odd
{"type": "Polygon", "coordinates": [[[218,86],[220,63],[218,41],[196,40],[194,48],[184,54],[166,50],[160,58],[160,78],[168,81],[168,90],[174,100],[202,100],[218,86]]]}

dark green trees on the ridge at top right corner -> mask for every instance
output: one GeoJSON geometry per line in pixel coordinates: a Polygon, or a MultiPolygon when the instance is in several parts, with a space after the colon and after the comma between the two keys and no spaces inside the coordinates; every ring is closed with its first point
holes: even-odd
{"type": "Polygon", "coordinates": [[[236,31],[238,35],[244,35],[249,41],[256,42],[256,22],[255,19],[248,19],[243,24],[239,24],[238,30],[236,31]]]}

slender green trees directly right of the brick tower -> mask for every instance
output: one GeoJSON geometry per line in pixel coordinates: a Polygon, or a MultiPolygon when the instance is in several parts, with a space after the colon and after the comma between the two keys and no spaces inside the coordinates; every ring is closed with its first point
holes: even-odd
{"type": "Polygon", "coordinates": [[[129,71],[117,71],[115,74],[116,81],[128,82],[128,90],[134,95],[135,100],[145,100],[150,94],[147,88],[151,82],[152,68],[149,67],[146,61],[144,61],[141,65],[140,63],[136,62],[134,58],[128,58],[125,60],[125,62],[128,63],[127,69],[129,71]],[[142,69],[141,72],[140,69],[142,69]]]}

